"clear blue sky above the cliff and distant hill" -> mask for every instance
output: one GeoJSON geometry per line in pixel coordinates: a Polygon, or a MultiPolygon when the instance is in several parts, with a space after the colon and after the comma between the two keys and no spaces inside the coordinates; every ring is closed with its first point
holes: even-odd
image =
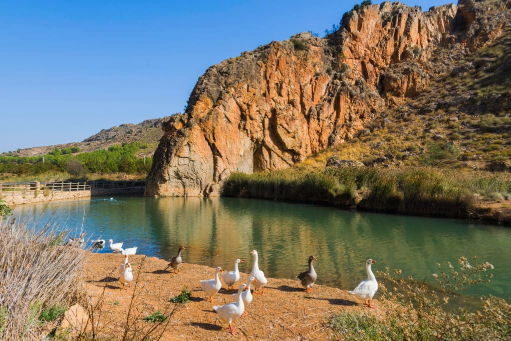
{"type": "Polygon", "coordinates": [[[181,112],[208,66],[298,32],[322,36],[355,3],[2,0],[0,152],[181,112]]]}

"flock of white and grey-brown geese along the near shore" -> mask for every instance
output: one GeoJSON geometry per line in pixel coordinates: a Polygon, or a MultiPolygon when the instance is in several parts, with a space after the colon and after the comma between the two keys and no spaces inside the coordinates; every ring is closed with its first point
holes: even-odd
{"type": "MultiPolygon", "coordinates": [[[[69,238],[68,244],[73,245],[77,243],[83,243],[84,235],[85,234],[81,234],[80,238],[69,238]]],[[[105,247],[105,244],[106,242],[103,239],[92,241],[93,247],[97,248],[103,248],[105,247]]],[[[123,243],[113,243],[111,239],[108,240],[108,244],[111,251],[124,255],[124,263],[119,267],[119,282],[123,285],[123,289],[126,289],[126,285],[131,287],[131,282],[133,281],[133,272],[131,264],[128,261],[128,256],[136,254],[137,248],[130,247],[123,249],[123,243]]],[[[179,267],[182,263],[181,252],[184,250],[184,246],[179,246],[177,255],[171,259],[165,270],[171,267],[175,273],[180,271],[179,267]]],[[[236,334],[233,327],[234,321],[236,321],[240,316],[248,315],[246,308],[252,302],[252,295],[264,295],[264,286],[268,283],[268,279],[265,277],[264,272],[259,269],[259,258],[257,251],[252,250],[250,253],[253,255],[252,271],[250,272],[247,283],[241,284],[238,292],[234,294],[235,302],[225,304],[223,306],[213,306],[213,310],[218,313],[220,320],[229,324],[228,328],[233,335],[236,334]],[[253,294],[251,289],[253,289],[253,294]],[[259,290],[261,290],[261,293],[259,293],[259,290]]],[[[317,279],[317,274],[312,264],[312,261],[314,260],[316,260],[316,257],[309,256],[309,268],[307,271],[301,272],[301,274],[296,276],[296,278],[301,282],[301,285],[304,286],[306,292],[312,291],[312,287],[314,286],[314,283],[317,279]]],[[[240,279],[238,264],[242,262],[243,261],[241,259],[237,259],[234,262],[234,270],[227,271],[225,274],[223,274],[222,279],[227,285],[228,289],[234,289],[234,285],[240,279]]],[[[358,299],[366,301],[367,306],[370,308],[375,308],[375,306],[371,305],[371,299],[373,299],[374,294],[378,290],[378,282],[376,281],[373,271],[371,271],[371,265],[374,263],[376,263],[376,261],[372,259],[368,259],[366,261],[365,268],[367,271],[367,279],[360,282],[354,290],[349,291],[358,299]]],[[[220,272],[223,272],[223,269],[219,266],[215,269],[215,277],[213,279],[200,281],[202,290],[208,295],[207,299],[210,300],[211,303],[215,303],[214,296],[222,288],[222,282],[220,282],[220,272]]]]}

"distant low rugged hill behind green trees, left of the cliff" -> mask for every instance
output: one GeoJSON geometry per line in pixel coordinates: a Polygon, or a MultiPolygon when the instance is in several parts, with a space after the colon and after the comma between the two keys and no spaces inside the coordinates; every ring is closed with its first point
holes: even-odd
{"type": "Polygon", "coordinates": [[[141,142],[148,145],[144,153],[152,154],[157,147],[158,141],[163,135],[161,131],[162,122],[168,118],[149,119],[138,124],[121,124],[119,127],[103,129],[95,135],[82,142],[72,142],[60,145],[33,147],[18,149],[11,153],[16,156],[39,156],[47,154],[54,148],[79,147],[82,152],[89,152],[98,149],[107,149],[113,145],[123,143],[141,142]]]}

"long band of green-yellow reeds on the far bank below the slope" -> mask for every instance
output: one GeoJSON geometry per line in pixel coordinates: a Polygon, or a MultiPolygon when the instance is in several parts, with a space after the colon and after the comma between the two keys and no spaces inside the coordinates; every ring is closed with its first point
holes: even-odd
{"type": "Polygon", "coordinates": [[[472,183],[471,187],[467,182],[464,176],[432,167],[291,168],[231,174],[223,194],[338,207],[357,204],[370,211],[468,217],[473,211],[476,185],[472,183]]]}

